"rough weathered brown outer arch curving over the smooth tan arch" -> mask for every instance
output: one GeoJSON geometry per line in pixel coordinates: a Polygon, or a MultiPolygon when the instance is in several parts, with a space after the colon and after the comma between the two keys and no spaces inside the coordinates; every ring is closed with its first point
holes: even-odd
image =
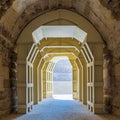
{"type": "MultiPolygon", "coordinates": [[[[107,4],[107,2],[105,4],[107,4]]],[[[4,5],[6,5],[6,4],[4,4],[4,5]]],[[[111,5],[111,4],[109,4],[109,5],[111,5]]],[[[116,5],[118,5],[118,4],[116,4],[116,5]]],[[[106,104],[106,107],[108,107],[107,109],[109,109],[109,110],[111,110],[112,106],[115,109],[119,108],[119,104],[116,104],[116,103],[118,103],[119,93],[116,92],[114,97],[113,97],[113,95],[111,96],[111,94],[112,94],[113,88],[115,91],[119,91],[119,87],[115,87],[114,85],[115,84],[119,85],[118,71],[119,71],[120,52],[118,52],[118,51],[120,50],[119,49],[119,33],[120,32],[119,32],[119,21],[114,19],[114,17],[111,15],[111,11],[109,11],[108,9],[103,7],[99,1],[93,1],[93,0],[86,0],[82,3],[81,3],[81,1],[73,2],[72,0],[70,0],[69,4],[66,3],[65,1],[59,1],[59,0],[56,0],[53,3],[52,3],[52,1],[48,2],[48,0],[46,2],[44,2],[43,0],[40,0],[40,1],[32,0],[30,3],[26,2],[24,0],[23,1],[16,0],[15,4],[11,5],[9,7],[10,8],[8,9],[8,11],[6,11],[6,7],[4,7],[6,14],[4,14],[4,16],[2,16],[2,19],[0,20],[0,29],[1,29],[0,30],[0,39],[2,41],[4,41],[5,44],[7,44],[7,46],[8,46],[8,48],[5,47],[5,49],[4,49],[5,51],[8,51],[9,48],[14,46],[14,44],[17,41],[16,38],[19,36],[20,31],[22,31],[22,29],[25,27],[25,25],[28,24],[32,19],[34,19],[35,17],[37,17],[41,14],[47,13],[48,11],[51,11],[51,10],[57,10],[57,9],[61,8],[61,9],[69,9],[78,14],[85,16],[97,28],[97,30],[100,32],[100,34],[102,35],[102,37],[105,40],[106,45],[107,45],[107,48],[106,48],[107,52],[105,50],[104,58],[106,59],[105,63],[108,63],[108,61],[109,61],[109,64],[105,64],[105,66],[104,66],[105,67],[104,81],[106,83],[106,86],[105,86],[106,87],[105,88],[106,102],[108,101],[110,104],[109,105],[106,104]],[[48,3],[48,4],[46,4],[46,3],[48,3]],[[22,6],[22,4],[24,4],[24,7],[22,6]],[[19,7],[18,7],[18,5],[19,5],[19,7]],[[18,8],[18,9],[16,9],[16,8],[18,8]],[[14,16],[14,17],[11,17],[11,16],[14,16]],[[110,76],[110,78],[106,75],[106,70],[107,70],[107,75],[110,76]],[[111,82],[113,84],[110,84],[111,82]],[[108,86],[108,85],[110,85],[110,86],[108,86]],[[111,88],[112,88],[112,90],[111,90],[111,88]],[[111,92],[108,93],[108,91],[111,91],[111,92]],[[111,103],[111,100],[112,100],[111,98],[113,98],[113,103],[111,103]]],[[[116,9],[116,7],[115,7],[115,9],[116,9]]],[[[54,24],[54,22],[53,22],[53,24],[54,24]]],[[[4,43],[1,42],[0,45],[2,45],[2,47],[4,47],[4,43]]],[[[14,48],[12,48],[13,53],[14,53],[14,51],[16,52],[16,50],[14,48]]],[[[1,51],[0,51],[0,53],[1,53],[1,51]]],[[[14,53],[14,54],[16,55],[16,53],[14,53]]],[[[2,57],[2,60],[0,60],[0,61],[4,62],[4,55],[1,57],[2,57]]],[[[5,59],[7,61],[9,61],[9,58],[7,56],[5,56],[5,59]]],[[[12,64],[16,65],[16,61],[13,62],[13,60],[11,59],[10,64],[11,64],[10,66],[12,66],[12,64]]],[[[23,64],[23,62],[21,62],[21,64],[23,64]]],[[[9,67],[5,66],[5,70],[8,71],[6,68],[9,69],[9,67]]],[[[3,69],[4,69],[4,65],[3,65],[3,69]]],[[[11,69],[16,69],[16,66],[14,66],[13,68],[10,68],[10,70],[11,69]]],[[[14,73],[14,74],[16,74],[16,73],[14,73]]],[[[8,75],[8,72],[5,72],[5,76],[7,76],[7,75],[8,75]]],[[[1,80],[5,81],[1,84],[1,88],[6,87],[6,84],[7,84],[7,87],[9,87],[8,83],[10,83],[10,81],[6,80],[5,76],[3,77],[3,75],[0,75],[1,80]]],[[[14,76],[14,77],[15,77],[15,79],[17,79],[16,76],[14,76]]],[[[8,79],[11,80],[11,78],[8,78],[8,79]]],[[[15,86],[13,85],[13,88],[16,88],[16,85],[15,86]]],[[[11,89],[11,88],[9,88],[9,89],[11,89]]],[[[6,92],[5,89],[1,89],[1,90],[3,90],[3,91],[1,91],[1,96],[2,96],[1,101],[4,101],[4,96],[6,96],[6,94],[8,95],[9,93],[6,92]]],[[[16,106],[16,103],[15,103],[15,106],[16,106]]],[[[16,107],[15,107],[15,109],[16,109],[16,107]]]]}

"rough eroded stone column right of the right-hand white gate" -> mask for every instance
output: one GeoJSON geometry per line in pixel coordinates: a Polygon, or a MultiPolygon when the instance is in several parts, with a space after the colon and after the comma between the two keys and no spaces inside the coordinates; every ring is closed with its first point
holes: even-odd
{"type": "Polygon", "coordinates": [[[103,80],[104,80],[104,111],[112,113],[113,76],[111,52],[104,48],[103,80]]]}

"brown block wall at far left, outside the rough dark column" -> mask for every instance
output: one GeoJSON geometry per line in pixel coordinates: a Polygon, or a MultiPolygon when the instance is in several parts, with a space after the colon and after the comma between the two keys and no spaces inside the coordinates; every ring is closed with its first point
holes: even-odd
{"type": "Polygon", "coordinates": [[[9,79],[9,45],[0,38],[0,116],[11,111],[11,82],[9,79]]]}

